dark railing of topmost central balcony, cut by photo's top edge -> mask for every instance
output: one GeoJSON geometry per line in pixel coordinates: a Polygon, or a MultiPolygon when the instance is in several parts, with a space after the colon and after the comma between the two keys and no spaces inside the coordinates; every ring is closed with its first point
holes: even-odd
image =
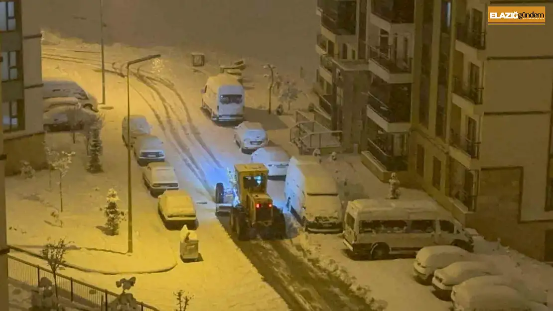
{"type": "Polygon", "coordinates": [[[414,1],[373,0],[371,6],[371,13],[389,23],[413,23],[415,16],[414,1]]]}

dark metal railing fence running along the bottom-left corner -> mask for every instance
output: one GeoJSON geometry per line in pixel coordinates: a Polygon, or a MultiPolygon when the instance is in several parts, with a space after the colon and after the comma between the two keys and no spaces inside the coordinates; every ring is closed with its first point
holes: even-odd
{"type": "MultiPolygon", "coordinates": [[[[54,275],[50,270],[9,255],[8,276],[12,280],[33,287],[38,287],[39,281],[43,277],[47,277],[50,281],[54,282],[54,275]]],[[[77,281],[72,277],[60,275],[59,273],[56,273],[56,281],[58,282],[58,294],[60,297],[94,310],[108,311],[108,303],[111,303],[119,296],[107,289],[77,281]]],[[[159,311],[159,309],[142,302],[139,302],[138,305],[141,311],[159,311]]]]}

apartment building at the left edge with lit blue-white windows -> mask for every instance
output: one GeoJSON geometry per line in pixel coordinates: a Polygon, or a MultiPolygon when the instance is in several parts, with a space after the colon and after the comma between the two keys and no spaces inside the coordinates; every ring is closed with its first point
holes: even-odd
{"type": "Polygon", "coordinates": [[[32,2],[0,1],[2,40],[2,115],[6,174],[19,171],[20,161],[43,167],[43,104],[40,25],[32,2]],[[25,14],[27,13],[27,14],[25,14]]]}

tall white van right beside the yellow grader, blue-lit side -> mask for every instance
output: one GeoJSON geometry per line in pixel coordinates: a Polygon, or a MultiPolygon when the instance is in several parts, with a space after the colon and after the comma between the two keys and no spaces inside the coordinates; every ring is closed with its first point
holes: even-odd
{"type": "Polygon", "coordinates": [[[292,157],[284,184],[286,208],[305,231],[340,232],[342,202],[334,178],[318,162],[292,157]]]}

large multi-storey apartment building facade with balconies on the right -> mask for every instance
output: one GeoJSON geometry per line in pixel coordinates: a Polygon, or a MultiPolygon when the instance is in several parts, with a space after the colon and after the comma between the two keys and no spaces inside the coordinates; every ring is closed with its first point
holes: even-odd
{"type": "Polygon", "coordinates": [[[488,25],[489,6],[553,9],[357,0],[352,35],[320,0],[320,110],[381,180],[398,172],[485,238],[553,261],[553,24],[488,25]]]}

